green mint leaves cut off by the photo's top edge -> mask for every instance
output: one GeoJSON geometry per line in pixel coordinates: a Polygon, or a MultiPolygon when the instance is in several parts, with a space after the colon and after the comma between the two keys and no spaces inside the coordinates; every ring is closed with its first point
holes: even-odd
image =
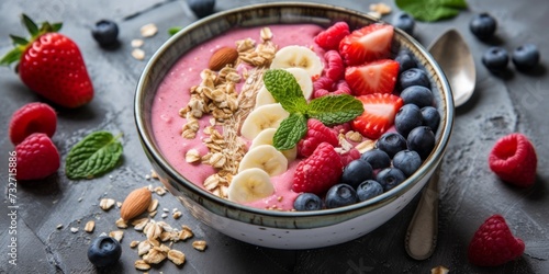
{"type": "Polygon", "coordinates": [[[418,21],[434,22],[458,15],[466,0],[395,0],[396,5],[418,21]]]}

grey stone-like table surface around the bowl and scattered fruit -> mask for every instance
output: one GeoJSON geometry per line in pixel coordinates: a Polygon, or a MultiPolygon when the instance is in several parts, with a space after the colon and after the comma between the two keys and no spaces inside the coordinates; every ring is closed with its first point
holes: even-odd
{"type": "MultiPolygon", "coordinates": [[[[220,0],[216,10],[268,1],[220,0]]],[[[317,1],[368,11],[377,1],[317,1]]],[[[393,7],[394,1],[383,2],[393,7]]],[[[451,141],[442,163],[439,204],[438,246],[432,258],[416,261],[404,251],[405,229],[412,218],[418,196],[390,221],[357,240],[335,247],[313,250],[273,250],[231,239],[195,220],[171,195],[158,197],[160,208],[179,208],[183,216],[166,221],[187,225],[195,239],[206,240],[205,252],[192,249],[190,242],[177,242],[187,262],[176,267],[165,262],[149,273],[429,273],[444,265],[450,273],[549,273],[549,146],[547,110],[549,109],[549,4],[545,0],[469,0],[469,10],[457,18],[416,25],[415,37],[425,46],[449,27],[456,27],[467,39],[474,55],[478,79],[473,98],[456,110],[451,141]],[[478,41],[468,24],[473,14],[488,11],[498,20],[496,38],[478,41]],[[492,45],[513,50],[523,43],[537,44],[541,66],[531,73],[518,72],[509,65],[505,78],[495,77],[481,64],[481,55],[492,45]],[[520,132],[535,144],[538,153],[538,175],[534,186],[516,189],[503,184],[489,169],[488,155],[494,141],[503,135],[520,132]],[[475,267],[468,263],[467,247],[480,224],[493,214],[502,214],[515,235],[526,243],[524,255],[498,267],[475,267]]],[[[70,181],[59,171],[41,182],[19,183],[16,226],[10,229],[7,182],[8,151],[13,150],[7,134],[11,114],[25,103],[43,101],[27,90],[8,68],[0,68],[0,273],[138,273],[132,240],[143,239],[126,229],[120,262],[109,270],[97,270],[87,259],[90,240],[101,232],[115,230],[119,209],[103,212],[99,201],[111,197],[123,201],[128,191],[152,184],[147,180],[150,164],[146,159],[133,119],[134,91],[146,60],[169,37],[171,26],[184,26],[195,16],[183,0],[4,0],[0,2],[0,53],[11,48],[8,34],[23,34],[19,14],[25,12],[38,21],[64,21],[61,33],[71,37],[83,54],[96,89],[93,101],[78,110],[58,109],[58,128],[53,137],[61,155],[85,135],[105,129],[123,133],[123,163],[104,176],[88,181],[70,181]],[[91,25],[100,19],[115,20],[121,28],[121,47],[100,48],[90,35],[91,25]],[[145,38],[143,61],[132,58],[131,41],[139,38],[139,27],[155,23],[156,36],[145,38]],[[83,231],[93,219],[93,233],[83,231]],[[57,228],[63,225],[61,228],[57,228]],[[79,228],[71,232],[70,228],[79,228]],[[10,230],[16,230],[16,266],[10,259],[10,230]]],[[[384,20],[390,21],[389,14],[384,20]]],[[[155,217],[161,219],[159,214],[155,217]]]]}

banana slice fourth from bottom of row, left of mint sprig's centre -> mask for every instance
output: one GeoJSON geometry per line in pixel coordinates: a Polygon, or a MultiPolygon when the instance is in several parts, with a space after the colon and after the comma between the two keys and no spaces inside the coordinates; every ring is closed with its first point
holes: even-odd
{"type": "Polygon", "coordinates": [[[277,128],[280,123],[290,116],[280,103],[267,104],[251,111],[240,127],[240,135],[249,140],[266,128],[277,128]]]}

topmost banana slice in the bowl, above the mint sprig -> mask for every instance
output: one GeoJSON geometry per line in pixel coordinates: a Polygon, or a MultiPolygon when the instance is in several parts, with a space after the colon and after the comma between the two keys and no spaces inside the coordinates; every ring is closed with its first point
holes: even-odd
{"type": "Polygon", "coordinates": [[[285,46],[277,52],[270,68],[302,68],[310,77],[317,77],[322,73],[324,65],[321,57],[309,47],[285,46]]]}

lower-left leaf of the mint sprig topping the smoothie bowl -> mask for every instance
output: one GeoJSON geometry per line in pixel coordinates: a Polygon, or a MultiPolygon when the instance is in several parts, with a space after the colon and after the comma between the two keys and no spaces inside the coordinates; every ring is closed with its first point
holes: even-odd
{"type": "Polygon", "coordinates": [[[291,149],[305,136],[306,132],[307,118],[305,115],[291,113],[277,128],[272,137],[272,146],[278,150],[291,149]]]}

